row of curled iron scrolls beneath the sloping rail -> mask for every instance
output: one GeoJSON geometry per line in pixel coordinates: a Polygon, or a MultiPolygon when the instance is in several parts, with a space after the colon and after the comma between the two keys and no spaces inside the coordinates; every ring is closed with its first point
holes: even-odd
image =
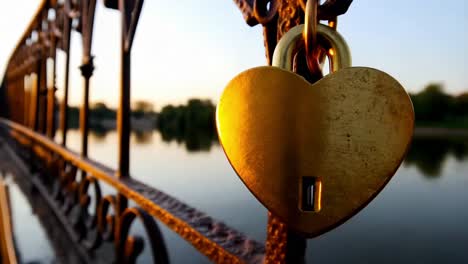
{"type": "Polygon", "coordinates": [[[140,219],[149,238],[155,263],[168,263],[162,234],[153,217],[141,209],[126,208],[118,213],[114,195],[102,197],[99,181],[90,175],[77,177],[79,170],[57,155],[47,156],[36,146],[34,152],[38,164],[40,183],[51,189],[58,214],[67,219],[74,237],[88,251],[98,249],[104,242],[115,244],[116,259],[121,263],[134,263],[142,252],[144,241],[129,235],[130,226],[140,219]],[[43,153],[40,156],[37,153],[43,153]],[[92,193],[90,193],[90,191],[92,193]],[[92,194],[92,195],[91,195],[92,194]],[[94,200],[95,207],[90,210],[94,200]]]}

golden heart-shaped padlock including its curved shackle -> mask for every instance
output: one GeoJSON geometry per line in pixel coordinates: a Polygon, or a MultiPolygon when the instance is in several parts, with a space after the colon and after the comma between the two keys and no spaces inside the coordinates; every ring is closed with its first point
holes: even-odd
{"type": "MultiPolygon", "coordinates": [[[[283,36],[274,64],[291,69],[301,33],[302,25],[283,36]]],[[[383,189],[414,127],[411,100],[395,79],[345,68],[342,37],[323,25],[318,36],[331,49],[335,72],[310,84],[279,67],[249,69],[229,82],[216,113],[221,144],[241,180],[308,237],[343,223],[383,189]]]]}

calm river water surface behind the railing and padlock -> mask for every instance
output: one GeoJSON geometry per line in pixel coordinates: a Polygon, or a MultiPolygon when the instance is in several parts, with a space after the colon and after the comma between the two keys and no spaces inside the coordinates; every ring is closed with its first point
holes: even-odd
{"type": "MultiPolygon", "coordinates": [[[[69,134],[79,150],[78,131],[69,134]]],[[[248,236],[264,241],[267,211],[217,143],[132,134],[131,174],[248,236]],[[195,143],[194,143],[195,142],[195,143]]],[[[117,162],[115,132],[92,133],[90,157],[117,162]]],[[[10,188],[15,237],[25,262],[53,263],[47,235],[19,189],[10,188]]],[[[107,189],[109,191],[109,189],[107,189]]],[[[342,226],[308,241],[307,263],[468,263],[468,140],[416,139],[387,187],[342,226]]],[[[209,261],[160,224],[172,263],[209,261]]],[[[141,233],[141,226],[132,227],[141,233]]],[[[141,263],[149,260],[144,252],[141,263]]]]}

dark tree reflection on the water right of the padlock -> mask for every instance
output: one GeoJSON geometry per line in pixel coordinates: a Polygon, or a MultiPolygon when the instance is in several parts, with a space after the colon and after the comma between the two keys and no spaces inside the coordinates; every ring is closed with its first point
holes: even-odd
{"type": "Polygon", "coordinates": [[[451,138],[414,138],[406,156],[404,165],[416,166],[427,178],[442,175],[442,169],[448,157],[457,161],[468,157],[468,140],[451,138]]]}

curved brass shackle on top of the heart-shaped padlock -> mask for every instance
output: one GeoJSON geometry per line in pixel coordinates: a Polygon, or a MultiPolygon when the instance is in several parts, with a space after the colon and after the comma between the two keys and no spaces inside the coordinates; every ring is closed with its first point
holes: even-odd
{"type": "MultiPolygon", "coordinates": [[[[293,59],[297,48],[303,41],[302,33],[304,25],[298,25],[290,29],[280,39],[273,53],[272,66],[288,71],[293,70],[293,59]]],[[[351,52],[344,38],[329,26],[317,25],[318,43],[327,51],[330,61],[330,71],[351,67],[351,52]]]]}

